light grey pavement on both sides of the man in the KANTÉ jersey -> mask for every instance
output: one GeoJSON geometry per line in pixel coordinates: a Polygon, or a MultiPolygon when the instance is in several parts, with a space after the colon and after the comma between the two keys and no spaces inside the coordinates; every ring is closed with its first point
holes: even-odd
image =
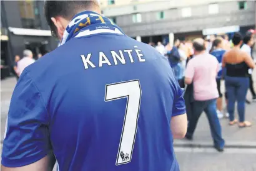
{"type": "MultiPolygon", "coordinates": [[[[254,80],[256,88],[256,70],[254,70],[254,80]]],[[[16,78],[1,80],[1,152],[6,116],[15,85],[16,78]]],[[[247,99],[252,99],[250,93],[247,99]]],[[[254,124],[252,127],[241,129],[236,125],[229,126],[228,119],[220,119],[226,144],[225,151],[222,153],[212,148],[209,123],[203,113],[197,124],[193,141],[186,139],[174,141],[180,170],[256,171],[256,103],[246,104],[245,109],[245,119],[254,124]]]]}

